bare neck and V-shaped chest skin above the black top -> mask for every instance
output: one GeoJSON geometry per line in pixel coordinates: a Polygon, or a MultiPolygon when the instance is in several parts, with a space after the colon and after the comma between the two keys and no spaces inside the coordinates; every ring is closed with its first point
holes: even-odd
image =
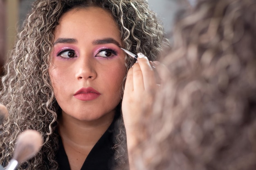
{"type": "Polygon", "coordinates": [[[58,131],[68,157],[71,170],[80,170],[89,152],[108,129],[115,111],[93,121],[81,121],[62,113],[58,131]]]}

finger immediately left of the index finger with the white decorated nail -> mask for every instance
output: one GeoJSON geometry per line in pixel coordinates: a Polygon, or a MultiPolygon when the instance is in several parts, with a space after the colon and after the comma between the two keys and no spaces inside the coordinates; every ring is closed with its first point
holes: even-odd
{"type": "Polygon", "coordinates": [[[144,91],[144,81],[141,68],[138,63],[133,65],[133,88],[134,91],[144,91]]]}

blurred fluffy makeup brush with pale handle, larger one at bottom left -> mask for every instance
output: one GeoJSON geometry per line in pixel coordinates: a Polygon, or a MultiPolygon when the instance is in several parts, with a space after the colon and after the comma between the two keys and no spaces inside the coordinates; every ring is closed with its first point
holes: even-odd
{"type": "Polygon", "coordinates": [[[34,157],[43,144],[43,137],[36,130],[25,130],[17,139],[14,147],[13,159],[5,170],[15,170],[17,166],[31,157],[34,157]]]}

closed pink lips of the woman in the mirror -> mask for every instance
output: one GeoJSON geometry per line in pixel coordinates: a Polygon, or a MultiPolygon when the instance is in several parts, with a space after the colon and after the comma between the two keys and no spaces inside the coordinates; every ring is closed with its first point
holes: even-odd
{"type": "Polygon", "coordinates": [[[96,99],[100,95],[101,93],[96,91],[94,88],[88,87],[88,88],[81,88],[79,91],[77,91],[74,94],[74,97],[79,100],[88,101],[88,100],[96,99]]]}

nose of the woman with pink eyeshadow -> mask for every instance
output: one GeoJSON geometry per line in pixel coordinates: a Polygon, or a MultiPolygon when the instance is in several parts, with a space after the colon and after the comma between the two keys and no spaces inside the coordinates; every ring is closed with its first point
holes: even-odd
{"type": "Polygon", "coordinates": [[[90,57],[81,57],[81,60],[77,60],[76,64],[76,79],[95,79],[97,77],[96,66],[90,57]]]}

